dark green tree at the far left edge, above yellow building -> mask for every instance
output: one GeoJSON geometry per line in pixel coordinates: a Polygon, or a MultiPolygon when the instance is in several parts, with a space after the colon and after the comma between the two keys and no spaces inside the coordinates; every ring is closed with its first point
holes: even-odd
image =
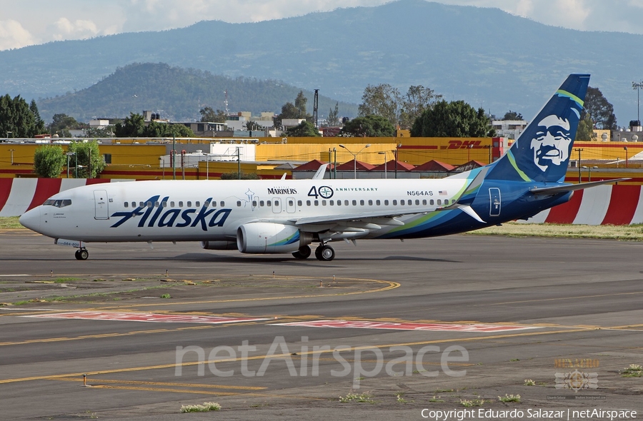
{"type": "Polygon", "coordinates": [[[36,116],[23,98],[11,98],[9,94],[0,96],[0,136],[31,138],[39,133],[36,116]]]}

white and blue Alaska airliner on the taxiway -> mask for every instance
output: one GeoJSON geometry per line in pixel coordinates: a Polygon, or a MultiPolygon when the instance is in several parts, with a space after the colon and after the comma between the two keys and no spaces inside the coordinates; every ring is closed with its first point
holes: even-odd
{"type": "Polygon", "coordinates": [[[201,241],[209,250],[333,260],[337,240],[423,238],[529,218],[569,201],[565,184],[589,75],[570,75],[498,161],[442,179],[139,181],[72,188],[20,223],[72,245],[201,241]]]}

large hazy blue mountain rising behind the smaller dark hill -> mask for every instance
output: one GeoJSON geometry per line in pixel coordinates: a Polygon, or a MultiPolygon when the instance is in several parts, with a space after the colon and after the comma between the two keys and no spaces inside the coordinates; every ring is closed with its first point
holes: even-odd
{"type": "MultiPolygon", "coordinates": [[[[0,51],[0,93],[38,101],[88,88],[128,64],[165,63],[319,88],[347,103],[359,103],[369,84],[390,83],[402,93],[422,85],[449,101],[531,118],[567,74],[578,72],[592,74],[590,85],[601,89],[619,124],[626,125],[637,118],[632,81],[641,80],[641,45],[643,35],[575,31],[499,9],[399,0],[0,51]]],[[[230,108],[241,111],[234,102],[230,108]]]]}

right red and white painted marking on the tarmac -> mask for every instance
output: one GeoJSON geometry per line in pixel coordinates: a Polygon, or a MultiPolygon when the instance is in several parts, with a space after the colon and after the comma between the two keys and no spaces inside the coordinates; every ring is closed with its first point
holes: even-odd
{"type": "Polygon", "coordinates": [[[307,328],[352,328],[391,330],[430,330],[446,332],[506,332],[514,330],[539,329],[532,326],[510,325],[457,325],[453,323],[392,323],[369,320],[310,320],[303,322],[273,323],[271,326],[304,326],[307,328]]]}

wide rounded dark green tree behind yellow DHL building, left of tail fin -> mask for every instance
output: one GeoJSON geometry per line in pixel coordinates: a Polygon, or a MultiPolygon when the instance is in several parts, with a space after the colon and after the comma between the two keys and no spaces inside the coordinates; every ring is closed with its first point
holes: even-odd
{"type": "Polygon", "coordinates": [[[411,136],[477,138],[496,136],[496,131],[483,108],[476,111],[464,101],[442,100],[417,118],[411,136]]]}

